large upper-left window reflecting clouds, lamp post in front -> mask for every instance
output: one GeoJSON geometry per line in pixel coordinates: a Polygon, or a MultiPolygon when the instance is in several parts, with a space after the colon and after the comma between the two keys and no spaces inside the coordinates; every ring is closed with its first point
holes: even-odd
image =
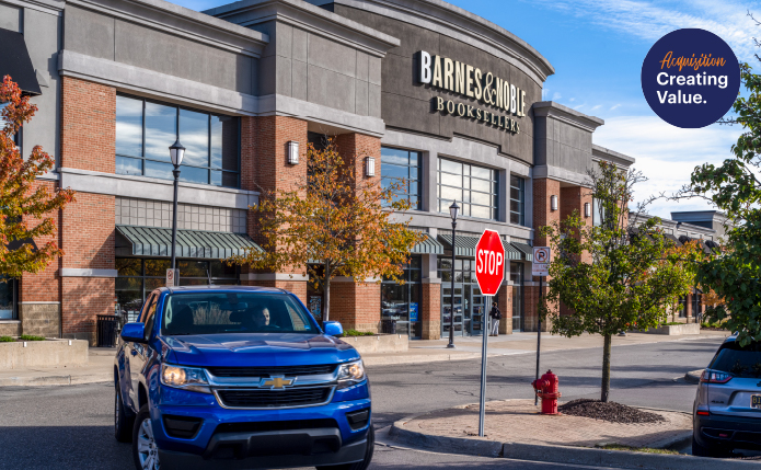
{"type": "Polygon", "coordinates": [[[169,147],[185,150],[180,180],[240,187],[239,119],[116,96],[116,173],[172,180],[169,147]]]}

